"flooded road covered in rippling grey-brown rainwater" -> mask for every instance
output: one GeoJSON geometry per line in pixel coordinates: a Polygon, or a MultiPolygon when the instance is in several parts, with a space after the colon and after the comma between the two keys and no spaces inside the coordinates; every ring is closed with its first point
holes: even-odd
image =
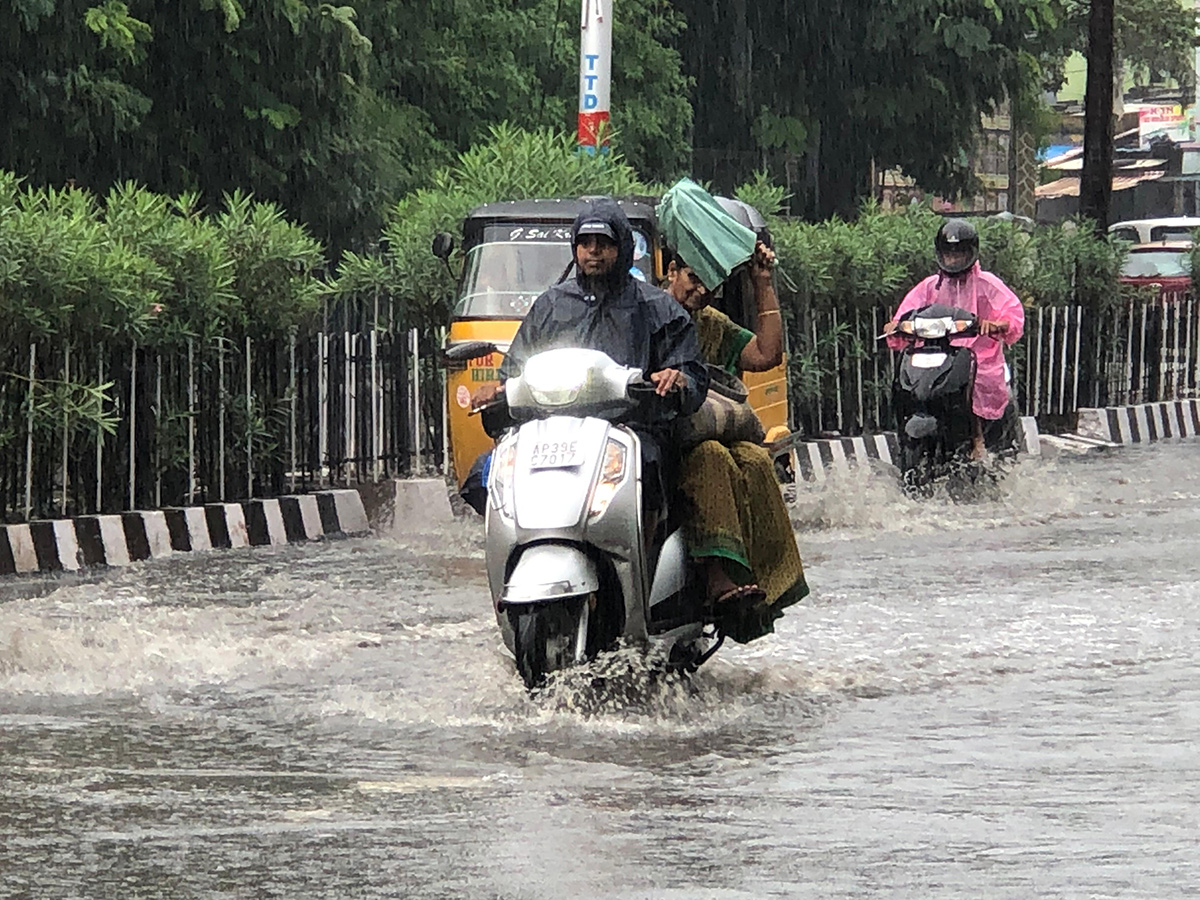
{"type": "Polygon", "coordinates": [[[599,707],[478,523],[0,583],[0,896],[1200,894],[1200,443],[796,515],[806,605],[599,707]]]}

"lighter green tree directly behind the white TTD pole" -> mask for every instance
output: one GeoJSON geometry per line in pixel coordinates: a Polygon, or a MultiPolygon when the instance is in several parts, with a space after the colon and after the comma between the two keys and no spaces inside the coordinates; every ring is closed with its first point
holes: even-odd
{"type": "MultiPolygon", "coordinates": [[[[486,140],[499,122],[575,126],[577,0],[374,0],[359,10],[373,42],[372,84],[424,124],[439,163],[486,140]]],[[[664,0],[619,0],[614,12],[617,143],[640,172],[664,180],[688,158],[688,82],[670,46],[683,26],[664,0]]],[[[436,167],[424,161],[427,179],[436,167]]]]}

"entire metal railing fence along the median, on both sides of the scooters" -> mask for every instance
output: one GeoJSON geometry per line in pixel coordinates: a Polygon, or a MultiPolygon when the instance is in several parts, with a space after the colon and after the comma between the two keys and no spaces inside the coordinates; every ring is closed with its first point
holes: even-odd
{"type": "MultiPolygon", "coordinates": [[[[790,317],[793,428],[894,427],[890,310],[790,317]]],[[[362,318],[366,318],[365,316],[362,318]]],[[[169,350],[0,348],[0,521],[239,500],[444,472],[440,330],[342,318],[316,334],[169,350]],[[88,388],[86,385],[91,385],[88,388]],[[95,385],[107,385],[101,394],[95,385]],[[102,413],[108,431],[86,422],[102,413]]],[[[1103,312],[1032,307],[1008,353],[1018,408],[1069,424],[1085,406],[1198,396],[1190,293],[1103,312]]]]}

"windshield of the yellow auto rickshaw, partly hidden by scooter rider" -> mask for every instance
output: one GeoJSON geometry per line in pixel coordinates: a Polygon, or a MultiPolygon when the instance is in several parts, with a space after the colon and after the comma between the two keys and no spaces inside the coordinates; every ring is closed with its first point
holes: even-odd
{"type": "MultiPolygon", "coordinates": [[[[467,251],[455,318],[524,318],[538,295],[557,282],[571,262],[569,228],[505,230],[504,238],[517,239],[485,239],[467,251]],[[529,233],[536,238],[530,239],[529,233]]],[[[650,277],[653,260],[646,236],[635,232],[634,244],[635,266],[650,277]]]]}

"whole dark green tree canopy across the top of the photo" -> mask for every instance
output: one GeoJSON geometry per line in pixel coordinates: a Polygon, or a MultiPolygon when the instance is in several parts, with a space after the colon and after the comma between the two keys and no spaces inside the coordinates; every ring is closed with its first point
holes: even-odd
{"type": "MultiPolygon", "coordinates": [[[[767,167],[810,218],[876,168],[968,186],[980,114],[1036,97],[1085,0],[617,0],[616,148],[720,190],[767,167]]],[[[1121,50],[1190,73],[1194,16],[1121,0],[1121,50]]],[[[338,257],[500,122],[570,128],[577,0],[11,0],[0,167],[104,193],[278,203],[338,257]]]]}

